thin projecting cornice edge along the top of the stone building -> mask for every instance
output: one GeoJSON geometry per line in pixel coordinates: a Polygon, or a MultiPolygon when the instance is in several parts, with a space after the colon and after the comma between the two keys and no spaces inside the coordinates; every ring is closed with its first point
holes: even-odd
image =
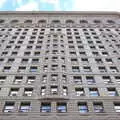
{"type": "Polygon", "coordinates": [[[46,15],[120,15],[120,12],[116,11],[0,11],[0,15],[22,15],[22,14],[30,14],[30,15],[39,15],[39,14],[46,14],[46,15]]]}

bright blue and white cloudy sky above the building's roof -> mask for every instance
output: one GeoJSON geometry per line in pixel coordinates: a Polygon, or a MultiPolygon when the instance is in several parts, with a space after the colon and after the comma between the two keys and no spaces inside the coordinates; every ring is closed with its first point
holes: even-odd
{"type": "Polygon", "coordinates": [[[0,0],[0,11],[120,12],[120,0],[0,0]]]}

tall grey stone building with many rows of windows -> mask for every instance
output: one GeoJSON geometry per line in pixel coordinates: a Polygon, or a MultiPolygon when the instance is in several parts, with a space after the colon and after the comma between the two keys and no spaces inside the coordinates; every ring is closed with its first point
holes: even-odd
{"type": "Polygon", "coordinates": [[[120,120],[120,14],[0,12],[0,120],[120,120]]]}

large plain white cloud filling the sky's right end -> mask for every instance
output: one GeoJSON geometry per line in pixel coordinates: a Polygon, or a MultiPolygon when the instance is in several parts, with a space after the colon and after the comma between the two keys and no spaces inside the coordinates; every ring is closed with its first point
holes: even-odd
{"type": "Polygon", "coordinates": [[[73,0],[72,10],[120,11],[120,0],[73,0]]]}

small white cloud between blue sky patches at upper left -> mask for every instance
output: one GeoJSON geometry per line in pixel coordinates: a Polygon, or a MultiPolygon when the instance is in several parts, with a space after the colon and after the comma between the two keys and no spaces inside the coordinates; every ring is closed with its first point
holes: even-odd
{"type": "Polygon", "coordinates": [[[39,5],[37,2],[28,2],[27,4],[20,5],[19,8],[16,8],[16,11],[37,11],[39,10],[39,5]]]}

